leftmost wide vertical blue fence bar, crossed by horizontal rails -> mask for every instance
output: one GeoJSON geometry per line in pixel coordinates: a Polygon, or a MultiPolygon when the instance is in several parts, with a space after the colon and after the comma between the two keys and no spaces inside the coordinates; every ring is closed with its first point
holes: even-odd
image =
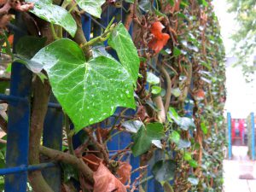
{"type": "MultiPolygon", "coordinates": [[[[15,15],[16,26],[25,30],[25,25],[21,20],[20,13],[15,15]]],[[[26,30],[25,30],[26,31],[26,30]]],[[[15,44],[21,34],[15,33],[15,44]]],[[[13,63],[10,81],[10,96],[20,96],[29,98],[31,95],[30,73],[26,67],[20,63],[13,63]]],[[[9,102],[8,113],[8,135],[6,150],[6,166],[27,166],[28,164],[28,144],[30,125],[30,102],[9,102]]],[[[26,191],[27,172],[19,172],[5,176],[5,192],[26,191]]]]}

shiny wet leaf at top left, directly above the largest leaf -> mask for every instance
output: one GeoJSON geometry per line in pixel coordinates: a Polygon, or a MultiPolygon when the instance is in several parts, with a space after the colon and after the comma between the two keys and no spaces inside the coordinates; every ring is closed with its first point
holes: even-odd
{"type": "Polygon", "coordinates": [[[52,4],[50,0],[27,0],[26,2],[35,3],[34,9],[30,10],[32,14],[37,15],[42,20],[62,26],[74,37],[77,31],[77,23],[66,9],[52,4]]]}

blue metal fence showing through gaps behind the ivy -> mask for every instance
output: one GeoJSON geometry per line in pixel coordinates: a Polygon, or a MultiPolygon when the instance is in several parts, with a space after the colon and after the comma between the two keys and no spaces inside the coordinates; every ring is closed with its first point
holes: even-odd
{"type": "MultiPolygon", "coordinates": [[[[124,4],[127,7],[129,4],[124,4]]],[[[82,15],[84,35],[87,40],[101,34],[102,28],[108,26],[108,22],[113,18],[115,21],[124,21],[125,11],[121,8],[108,6],[102,13],[102,20],[96,20],[90,15],[82,15]]],[[[15,44],[22,36],[26,35],[26,28],[22,22],[21,15],[16,14],[16,24],[19,28],[15,32],[15,44]]],[[[132,25],[130,33],[132,32],[132,25]]],[[[107,45],[107,43],[105,44],[107,45]]],[[[0,169],[0,175],[5,175],[5,192],[24,192],[27,188],[27,172],[42,170],[46,181],[55,192],[61,190],[61,168],[53,162],[42,162],[39,165],[28,164],[29,126],[31,111],[31,90],[32,73],[20,63],[13,63],[10,81],[9,96],[0,94],[0,100],[9,103],[9,120],[7,135],[6,168],[0,169]]],[[[43,144],[49,148],[61,150],[62,148],[62,121],[63,113],[61,106],[56,103],[54,96],[49,102],[49,109],[44,121],[43,144]]],[[[117,110],[115,116],[118,115],[117,110]]],[[[134,112],[128,111],[125,115],[132,115],[134,112]]],[[[74,137],[75,138],[75,137],[74,137]]],[[[127,133],[120,133],[113,137],[113,141],[108,143],[109,150],[123,149],[131,143],[131,136],[127,133]]],[[[154,160],[159,160],[164,154],[160,152],[154,154],[154,160]]],[[[128,155],[133,169],[140,166],[139,158],[128,155]]],[[[150,162],[149,162],[150,164],[150,162]]],[[[148,182],[146,189],[148,192],[162,191],[160,183],[151,177],[151,167],[148,167],[148,182]]],[[[139,172],[132,174],[131,182],[139,176],[139,172]]]]}

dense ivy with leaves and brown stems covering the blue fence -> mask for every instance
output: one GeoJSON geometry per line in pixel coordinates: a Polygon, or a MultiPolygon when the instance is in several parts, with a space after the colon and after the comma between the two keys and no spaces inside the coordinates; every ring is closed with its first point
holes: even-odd
{"type": "MultiPolygon", "coordinates": [[[[50,84],[65,113],[65,153],[40,146],[40,125],[30,135],[39,139],[33,153],[61,161],[64,191],[73,189],[71,177],[83,191],[143,191],[152,177],[166,191],[222,191],[224,46],[211,1],[33,2],[29,11],[42,37],[29,31],[15,54],[6,51],[7,41],[2,46],[33,72],[32,101],[40,91],[44,98],[50,84]],[[111,20],[100,36],[86,41],[78,6],[97,18],[106,6],[128,10],[124,25],[111,20]],[[44,89],[37,90],[38,84],[44,89]],[[135,109],[132,115],[127,108],[135,109]],[[121,112],[113,118],[116,109],[121,112]],[[71,123],[83,136],[79,148],[73,148],[71,123]],[[110,157],[107,144],[123,132],[132,143],[110,157]],[[134,183],[129,181],[131,165],[124,160],[131,154],[140,159],[134,183]]],[[[30,182],[36,190],[37,184],[30,182]]]]}

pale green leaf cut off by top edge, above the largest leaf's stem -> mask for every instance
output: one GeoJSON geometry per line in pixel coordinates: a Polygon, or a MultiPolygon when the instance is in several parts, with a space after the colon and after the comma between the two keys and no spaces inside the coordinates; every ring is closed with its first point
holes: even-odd
{"type": "Polygon", "coordinates": [[[88,14],[101,18],[102,15],[102,4],[106,0],[76,0],[81,9],[84,9],[88,14]]]}

